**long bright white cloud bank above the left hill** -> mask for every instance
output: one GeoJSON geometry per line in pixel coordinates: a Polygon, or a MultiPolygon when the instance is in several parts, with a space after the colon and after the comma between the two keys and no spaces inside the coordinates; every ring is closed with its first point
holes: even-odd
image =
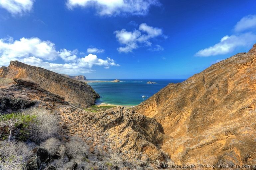
{"type": "Polygon", "coordinates": [[[119,66],[108,57],[104,60],[96,55],[88,54],[79,58],[77,54],[78,50],[70,51],[65,48],[57,51],[53,42],[42,41],[37,37],[23,37],[15,41],[10,37],[0,39],[1,66],[8,66],[11,60],[18,60],[64,74],[90,73],[94,65],[104,66],[106,69],[110,66],[119,66]],[[64,64],[49,62],[61,59],[65,62],[64,64]]]}

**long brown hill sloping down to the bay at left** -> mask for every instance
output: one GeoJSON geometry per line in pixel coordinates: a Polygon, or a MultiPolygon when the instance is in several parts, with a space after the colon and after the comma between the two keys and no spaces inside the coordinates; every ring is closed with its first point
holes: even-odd
{"type": "Polygon", "coordinates": [[[76,106],[88,107],[99,97],[87,84],[18,61],[11,61],[10,66],[1,67],[0,77],[29,80],[47,91],[63,96],[66,101],[76,106]]]}

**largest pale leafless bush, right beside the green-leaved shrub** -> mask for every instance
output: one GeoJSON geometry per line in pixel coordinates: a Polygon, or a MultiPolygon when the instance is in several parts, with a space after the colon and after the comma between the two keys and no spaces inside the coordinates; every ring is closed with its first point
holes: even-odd
{"type": "Polygon", "coordinates": [[[31,125],[32,140],[44,141],[57,134],[59,120],[50,111],[42,108],[31,108],[26,113],[36,116],[36,123],[31,125]]]}

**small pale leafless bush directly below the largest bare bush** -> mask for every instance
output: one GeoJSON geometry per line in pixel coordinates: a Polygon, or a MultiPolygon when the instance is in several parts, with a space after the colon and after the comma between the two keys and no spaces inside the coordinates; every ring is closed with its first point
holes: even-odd
{"type": "Polygon", "coordinates": [[[50,138],[40,144],[41,147],[46,148],[48,150],[50,155],[54,155],[57,152],[60,145],[61,142],[56,138],[50,138]]]}

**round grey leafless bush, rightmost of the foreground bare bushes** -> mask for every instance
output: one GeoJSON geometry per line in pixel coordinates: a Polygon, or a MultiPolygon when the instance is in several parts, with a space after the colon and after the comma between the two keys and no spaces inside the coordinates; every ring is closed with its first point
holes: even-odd
{"type": "Polygon", "coordinates": [[[89,146],[81,138],[71,137],[70,141],[66,142],[66,149],[73,159],[78,159],[81,156],[86,158],[89,146]]]}

